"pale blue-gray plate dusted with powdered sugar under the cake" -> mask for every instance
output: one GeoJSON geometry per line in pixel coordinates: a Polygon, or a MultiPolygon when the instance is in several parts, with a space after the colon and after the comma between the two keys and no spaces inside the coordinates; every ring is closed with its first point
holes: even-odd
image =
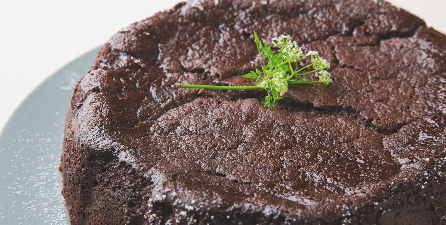
{"type": "Polygon", "coordinates": [[[66,108],[99,47],[62,67],[21,103],[0,133],[0,224],[69,224],[58,171],[66,108]]]}

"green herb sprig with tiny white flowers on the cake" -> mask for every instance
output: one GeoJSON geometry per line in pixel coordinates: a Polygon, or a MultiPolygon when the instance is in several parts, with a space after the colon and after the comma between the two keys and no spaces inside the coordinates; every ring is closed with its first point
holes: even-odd
{"type": "Polygon", "coordinates": [[[257,49],[262,56],[261,70],[256,68],[256,71],[250,71],[248,74],[243,75],[242,78],[254,79],[257,85],[217,86],[176,84],[175,86],[219,90],[264,89],[266,90],[266,102],[264,106],[276,108],[274,103],[282,99],[281,96],[288,92],[289,84],[323,83],[328,85],[332,82],[330,73],[325,70],[330,68],[330,63],[320,57],[316,51],[309,51],[303,54],[302,48],[297,45],[296,41],[291,41],[289,35],[273,37],[271,40],[271,43],[279,48],[277,53],[273,53],[270,45],[260,41],[255,30],[254,39],[256,40],[257,49]],[[307,57],[310,57],[312,63],[298,68],[297,61],[301,61],[307,57]],[[318,80],[303,77],[303,75],[311,73],[314,73],[314,76],[318,80]]]}

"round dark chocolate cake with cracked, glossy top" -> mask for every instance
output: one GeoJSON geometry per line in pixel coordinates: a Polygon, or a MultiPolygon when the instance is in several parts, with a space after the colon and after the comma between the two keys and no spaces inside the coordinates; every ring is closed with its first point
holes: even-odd
{"type": "Polygon", "coordinates": [[[378,0],[201,0],[111,37],[74,90],[72,224],[445,224],[446,36],[378,0]],[[240,78],[288,34],[333,82],[240,78]]]}

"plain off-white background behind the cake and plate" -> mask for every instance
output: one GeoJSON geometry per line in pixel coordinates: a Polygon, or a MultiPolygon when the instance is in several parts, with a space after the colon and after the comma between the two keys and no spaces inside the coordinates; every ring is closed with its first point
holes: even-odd
{"type": "MultiPolygon", "coordinates": [[[[389,0],[446,33],[446,0],[389,0]]],[[[179,0],[14,0],[0,8],[0,130],[45,78],[179,0]]],[[[358,1],[359,2],[359,1],[358,1]]],[[[67,103],[68,104],[68,103],[67,103]]]]}

